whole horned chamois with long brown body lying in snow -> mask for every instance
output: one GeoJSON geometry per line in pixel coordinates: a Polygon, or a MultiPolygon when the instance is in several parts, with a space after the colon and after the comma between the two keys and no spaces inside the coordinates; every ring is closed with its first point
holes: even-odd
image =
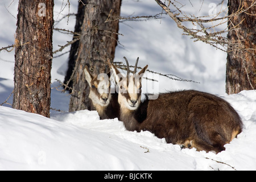
{"type": "MultiPolygon", "coordinates": [[[[125,58],[125,57],[124,57],[125,58]]],[[[156,100],[141,101],[144,67],[136,74],[123,77],[112,64],[115,80],[119,86],[118,102],[120,121],[129,131],[147,130],[167,143],[179,144],[181,148],[195,147],[197,151],[225,150],[242,131],[242,121],[232,106],[222,98],[196,90],[160,93],[156,100]]]]}

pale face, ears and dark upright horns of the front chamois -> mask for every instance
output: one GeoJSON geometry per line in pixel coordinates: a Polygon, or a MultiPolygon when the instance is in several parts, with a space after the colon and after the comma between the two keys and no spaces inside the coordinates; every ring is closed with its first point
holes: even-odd
{"type": "Polygon", "coordinates": [[[115,81],[119,86],[118,102],[121,107],[126,107],[129,110],[136,110],[141,103],[141,81],[143,73],[148,65],[144,67],[138,74],[136,73],[139,57],[136,60],[133,75],[130,75],[129,63],[126,57],[123,57],[127,65],[127,75],[123,76],[118,69],[111,65],[114,72],[115,81]]]}

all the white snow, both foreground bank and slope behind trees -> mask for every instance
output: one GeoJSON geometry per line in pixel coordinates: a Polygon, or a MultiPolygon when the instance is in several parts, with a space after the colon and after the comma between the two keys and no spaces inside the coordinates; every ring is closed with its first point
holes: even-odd
{"type": "MultiPolygon", "coordinates": [[[[55,20],[68,13],[67,8],[62,10],[62,2],[55,1],[55,20]]],[[[199,5],[201,13],[208,12],[208,2],[205,1],[206,7],[199,5]]],[[[14,42],[16,19],[12,15],[16,15],[17,6],[18,1],[0,2],[0,15],[5,17],[0,22],[0,47],[14,42]]],[[[76,8],[77,2],[72,1],[71,13],[76,8]]],[[[185,8],[189,13],[195,12],[190,3],[185,8]]],[[[155,1],[122,2],[124,16],[159,11],[155,1]]],[[[71,16],[68,24],[64,19],[57,26],[73,30],[74,20],[71,16]]],[[[148,64],[154,71],[199,81],[196,84],[159,77],[159,91],[197,89],[217,94],[240,114],[242,133],[218,154],[195,148],[181,150],[148,131],[127,131],[117,118],[100,120],[97,111],[68,113],[68,93],[52,89],[51,107],[62,112],[51,110],[51,118],[12,109],[12,96],[9,104],[0,106],[0,170],[256,170],[256,92],[225,94],[225,53],[181,35],[182,31],[167,16],[120,23],[119,32],[124,35],[119,36],[119,42],[125,47],[117,47],[115,61],[123,61],[126,56],[134,64],[139,56],[141,67],[148,64]]],[[[72,36],[55,31],[54,49],[71,39],[72,36]]],[[[67,57],[68,54],[53,59],[52,88],[59,86],[55,78],[64,79],[67,57]]],[[[2,51],[0,63],[2,104],[13,90],[14,51],[2,51]]]]}

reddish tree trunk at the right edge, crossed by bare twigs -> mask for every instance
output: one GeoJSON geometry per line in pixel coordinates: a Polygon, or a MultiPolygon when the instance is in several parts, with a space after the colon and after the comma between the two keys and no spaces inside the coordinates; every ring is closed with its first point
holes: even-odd
{"type": "MultiPolygon", "coordinates": [[[[229,14],[237,12],[243,5],[247,9],[253,0],[229,0],[229,14]],[[241,4],[240,4],[241,3],[241,4]]],[[[229,47],[226,64],[226,93],[251,90],[256,86],[256,6],[246,13],[229,20],[229,47]]]]}

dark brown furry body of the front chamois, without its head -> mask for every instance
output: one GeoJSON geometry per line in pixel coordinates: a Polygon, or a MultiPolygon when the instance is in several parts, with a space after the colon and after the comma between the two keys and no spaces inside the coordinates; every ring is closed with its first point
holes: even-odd
{"type": "Polygon", "coordinates": [[[242,131],[241,118],[228,102],[196,90],[159,94],[133,114],[137,131],[151,131],[167,143],[197,150],[225,150],[224,144],[242,131]]]}

